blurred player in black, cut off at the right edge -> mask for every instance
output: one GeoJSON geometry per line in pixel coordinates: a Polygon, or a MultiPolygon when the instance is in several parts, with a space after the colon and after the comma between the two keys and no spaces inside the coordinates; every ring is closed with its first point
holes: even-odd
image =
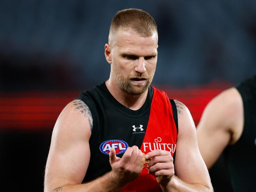
{"type": "Polygon", "coordinates": [[[217,95],[197,127],[207,168],[222,151],[234,191],[256,191],[256,75],[217,95]]]}

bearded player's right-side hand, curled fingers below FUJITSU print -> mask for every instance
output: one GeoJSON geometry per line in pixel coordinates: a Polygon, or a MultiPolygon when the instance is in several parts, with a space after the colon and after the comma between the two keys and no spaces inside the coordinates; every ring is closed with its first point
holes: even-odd
{"type": "Polygon", "coordinates": [[[145,157],[147,160],[150,160],[148,173],[154,175],[160,185],[168,185],[174,175],[174,164],[171,153],[157,149],[149,152],[145,157]]]}

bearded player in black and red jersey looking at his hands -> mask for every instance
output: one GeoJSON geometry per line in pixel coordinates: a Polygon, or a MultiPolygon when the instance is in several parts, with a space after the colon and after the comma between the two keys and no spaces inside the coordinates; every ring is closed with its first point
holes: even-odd
{"type": "Polygon", "coordinates": [[[174,101],[149,86],[157,42],[157,26],[145,11],[115,15],[105,45],[110,77],[58,117],[46,192],[212,191],[189,110],[176,101],[178,121],[174,101]]]}

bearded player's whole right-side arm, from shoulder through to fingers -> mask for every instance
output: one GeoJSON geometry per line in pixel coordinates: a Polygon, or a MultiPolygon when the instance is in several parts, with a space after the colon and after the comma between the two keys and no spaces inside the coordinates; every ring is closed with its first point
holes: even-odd
{"type": "Polygon", "coordinates": [[[212,192],[211,179],[198,148],[196,127],[192,116],[184,104],[179,101],[175,101],[175,103],[178,110],[179,134],[174,170],[169,152],[157,150],[149,152],[146,156],[153,160],[150,164],[149,173],[155,175],[154,172],[158,171],[155,177],[163,192],[212,192]],[[161,163],[155,159],[161,159],[161,163]],[[165,162],[163,162],[164,160],[165,162]],[[175,175],[173,175],[174,172],[175,175]],[[159,175],[159,173],[161,174],[159,175]]]}

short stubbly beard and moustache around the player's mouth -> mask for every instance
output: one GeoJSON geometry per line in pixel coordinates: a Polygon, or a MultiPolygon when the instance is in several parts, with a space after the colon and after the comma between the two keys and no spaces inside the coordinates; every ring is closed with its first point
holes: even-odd
{"type": "Polygon", "coordinates": [[[133,75],[129,75],[127,77],[121,75],[119,70],[116,68],[116,65],[113,65],[113,74],[114,74],[114,80],[116,81],[116,84],[118,87],[131,95],[140,95],[144,93],[148,87],[150,86],[153,76],[155,74],[155,70],[153,71],[152,75],[148,75],[147,73],[138,73],[135,72],[133,75]],[[144,78],[146,82],[144,83],[136,83],[133,81],[134,78],[144,78]]]}

